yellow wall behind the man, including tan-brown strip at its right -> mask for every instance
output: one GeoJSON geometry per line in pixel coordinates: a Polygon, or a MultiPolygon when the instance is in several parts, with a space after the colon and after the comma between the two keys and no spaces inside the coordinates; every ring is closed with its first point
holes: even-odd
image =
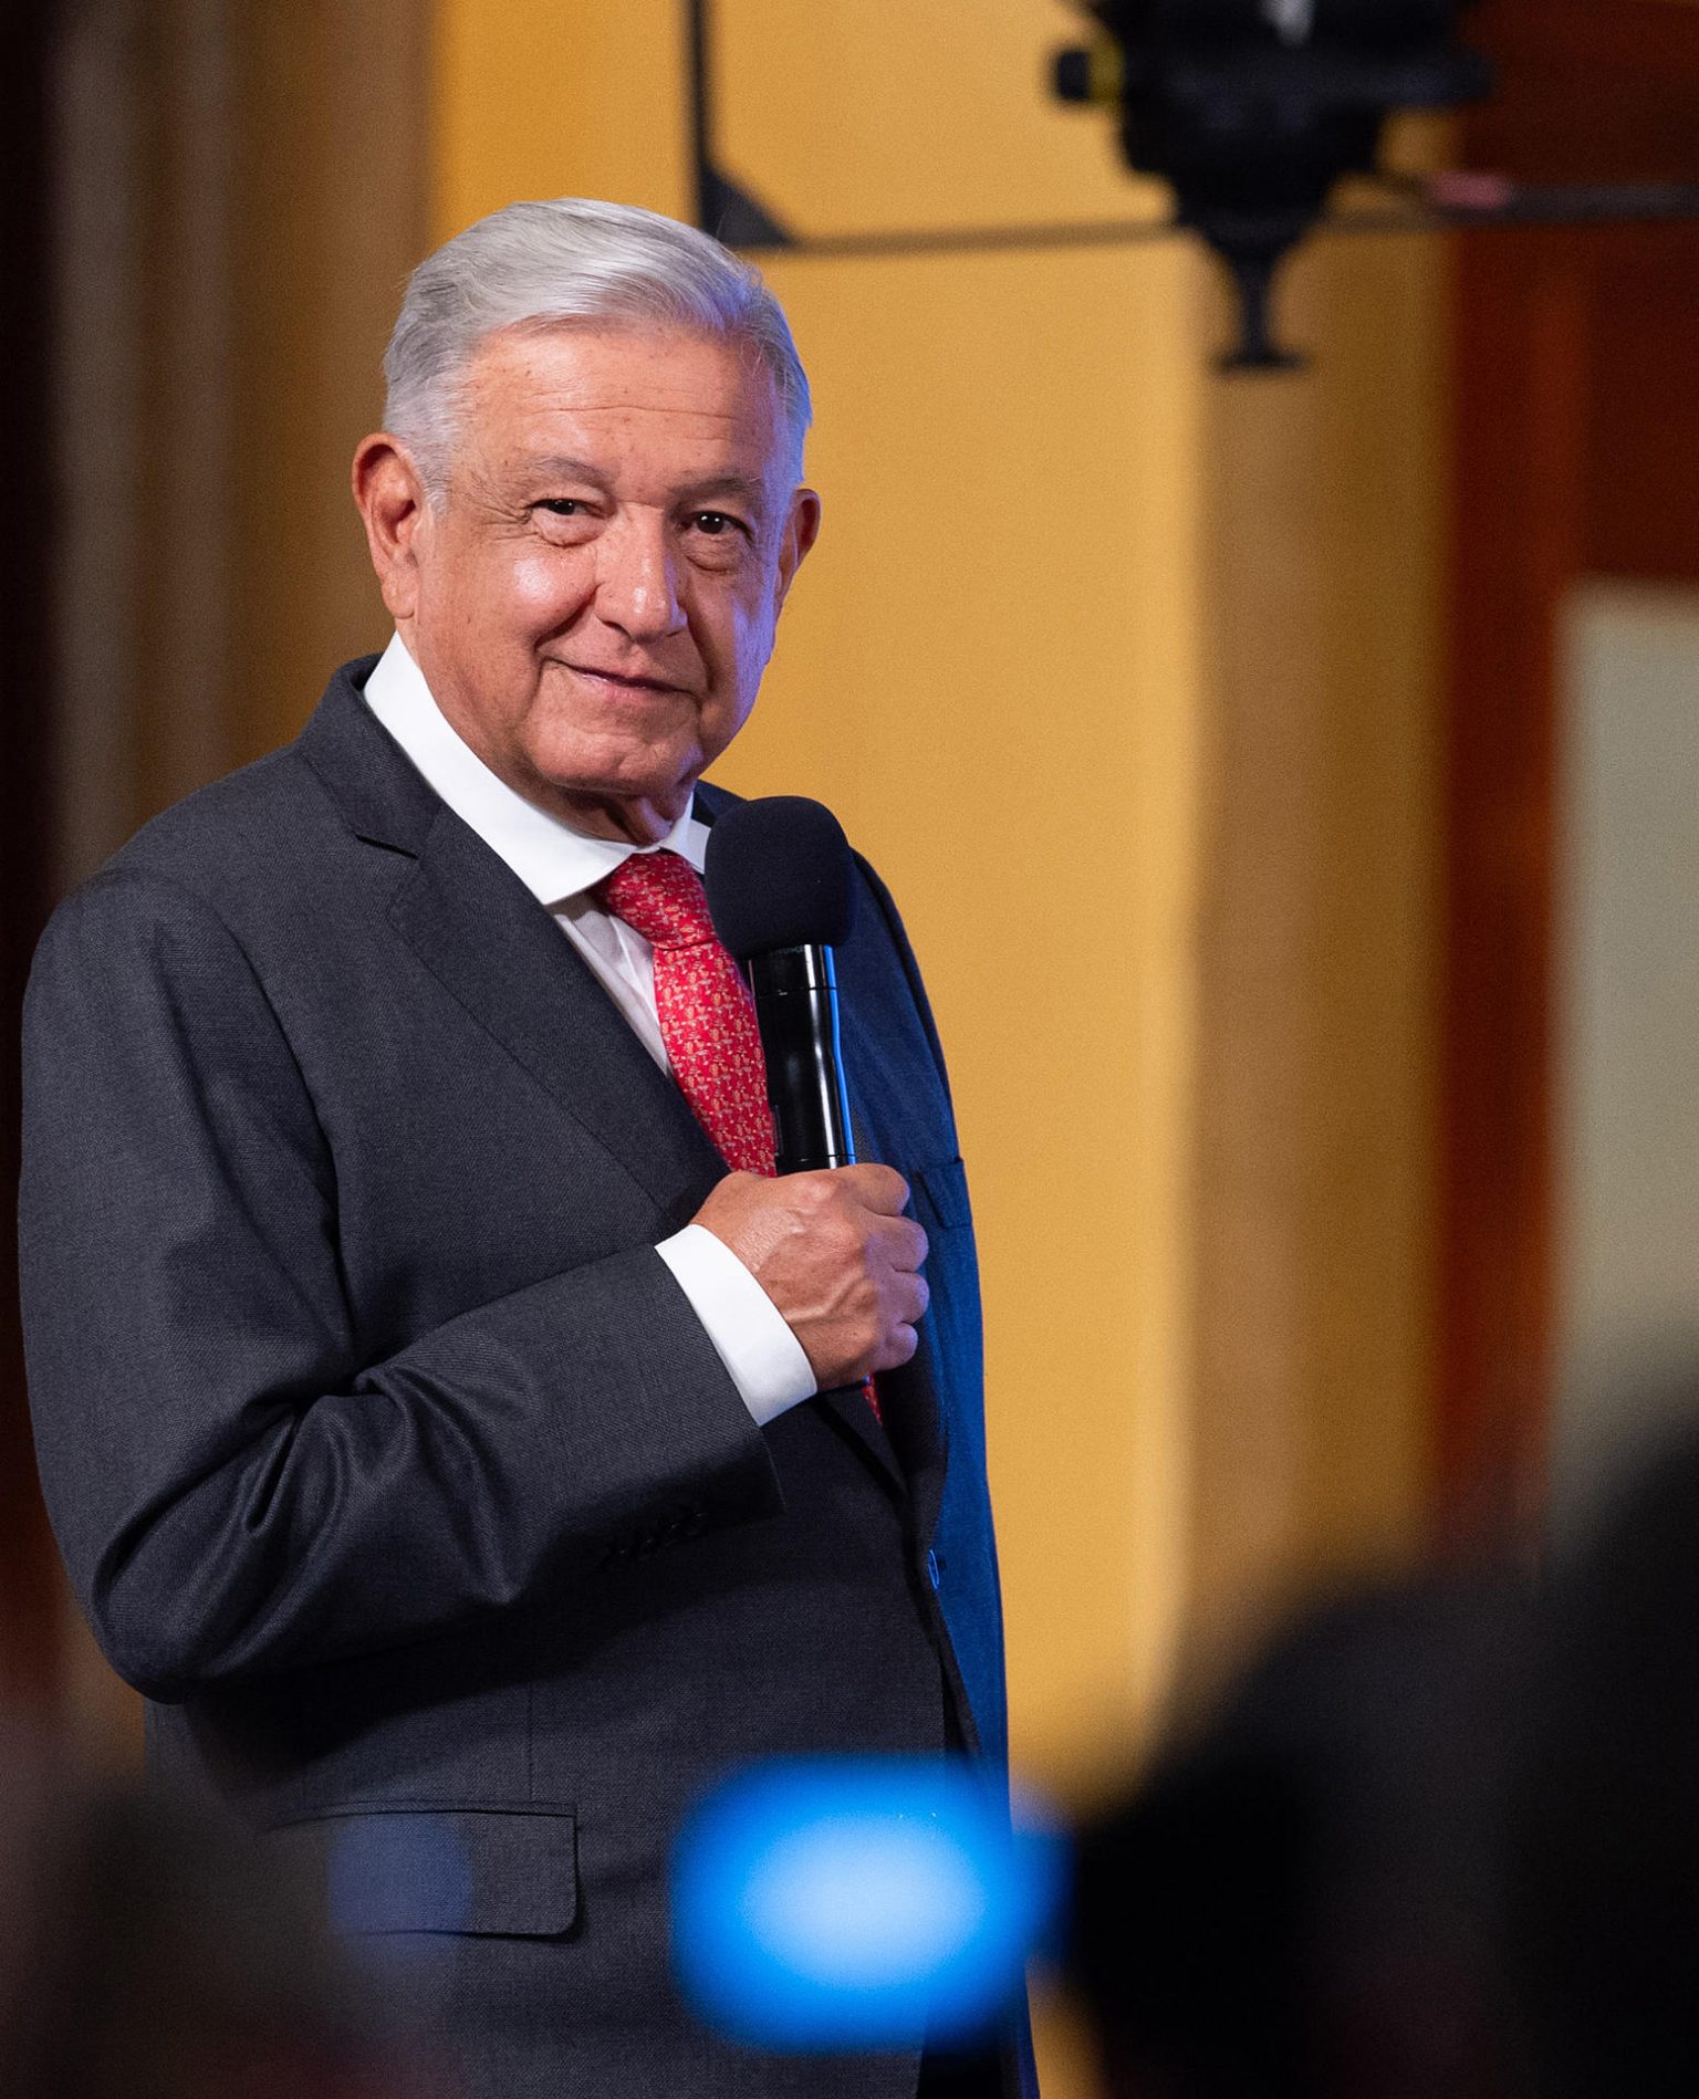
{"type": "MultiPolygon", "coordinates": [[[[685,214],[680,13],[437,0],[437,233],[569,191],[685,214]]],[[[720,157],[798,229],[1159,210],[1040,92],[1073,8],[720,15],[720,157]]],[[[926,968],[1014,1757],[1069,1797],[1182,1639],[1420,1522],[1439,256],[1317,250],[1317,372],[1250,386],[1180,241],[769,277],[825,533],[718,777],[830,800],[926,968]]]]}

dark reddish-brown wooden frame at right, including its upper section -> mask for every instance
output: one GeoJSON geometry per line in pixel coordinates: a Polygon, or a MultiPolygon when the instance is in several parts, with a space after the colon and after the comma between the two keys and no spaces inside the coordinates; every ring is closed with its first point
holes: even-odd
{"type": "MultiPolygon", "coordinates": [[[[1489,0],[1464,160],[1699,181],[1699,8],[1489,0]]],[[[1588,575],[1699,577],[1699,227],[1455,246],[1441,1104],[1441,1505],[1541,1492],[1552,1371],[1558,623],[1588,575]]]]}

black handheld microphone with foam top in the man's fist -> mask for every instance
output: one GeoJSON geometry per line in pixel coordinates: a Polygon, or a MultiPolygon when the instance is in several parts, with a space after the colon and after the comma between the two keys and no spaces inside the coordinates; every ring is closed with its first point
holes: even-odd
{"type": "Polygon", "coordinates": [[[781,1173],[855,1165],[832,949],[855,917],[855,867],[821,802],[739,802],[708,833],[714,932],[750,978],[781,1173]]]}

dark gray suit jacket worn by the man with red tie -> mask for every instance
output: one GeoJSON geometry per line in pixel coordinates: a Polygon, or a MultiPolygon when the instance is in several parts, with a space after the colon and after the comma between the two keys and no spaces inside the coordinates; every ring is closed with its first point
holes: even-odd
{"type": "MultiPolygon", "coordinates": [[[[48,1507],[155,1765],[311,1851],[473,2093],[899,2095],[756,2059],[666,1963],[746,1759],[1004,1757],[972,1230],[863,869],[863,1157],[914,1186],[914,1364],[760,1432],[653,1247],[725,1167],[548,913],[340,672],[292,747],[55,917],[23,1297],[48,1507]]],[[[699,791],[699,812],[722,806],[699,791]]]]}

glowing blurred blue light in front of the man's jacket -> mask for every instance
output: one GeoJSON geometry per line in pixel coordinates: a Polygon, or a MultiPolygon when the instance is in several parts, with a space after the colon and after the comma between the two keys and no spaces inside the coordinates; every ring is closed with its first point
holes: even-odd
{"type": "Polygon", "coordinates": [[[968,2040],[1014,2000],[1058,1883],[1058,1843],[1014,1837],[962,1763],[764,1763],[680,1837],[674,1965],[756,2047],[968,2040]]]}

